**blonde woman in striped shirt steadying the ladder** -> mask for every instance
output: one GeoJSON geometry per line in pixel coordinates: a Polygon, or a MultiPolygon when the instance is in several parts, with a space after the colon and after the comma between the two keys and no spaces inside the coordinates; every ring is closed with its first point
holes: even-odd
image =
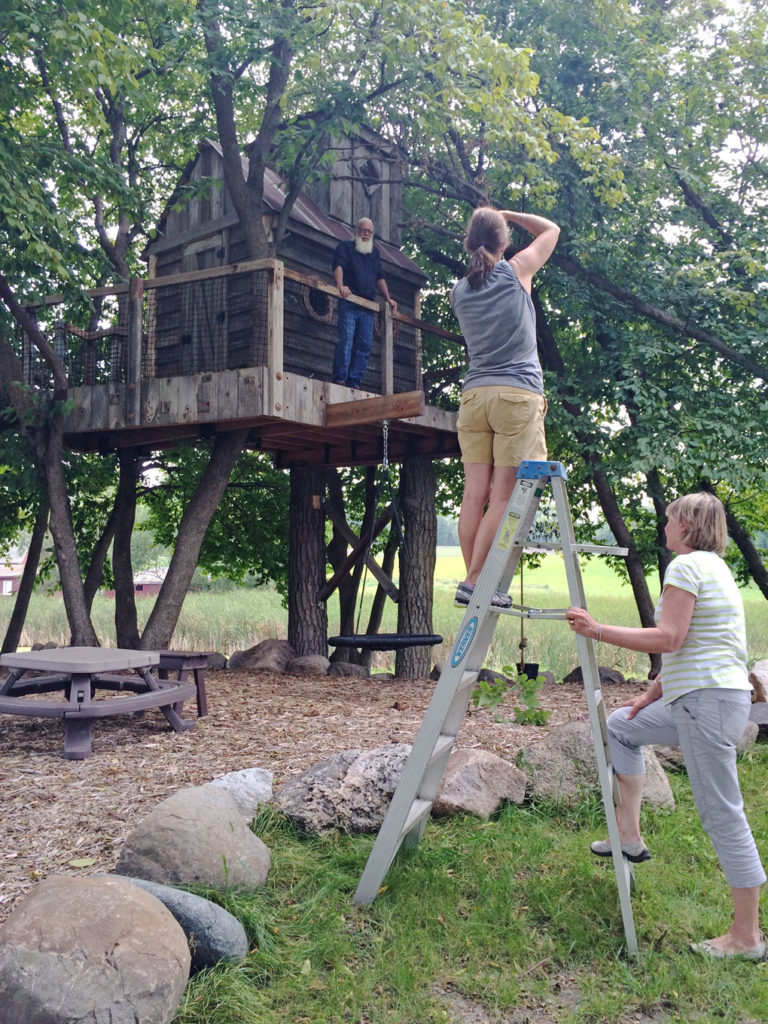
{"type": "MultiPolygon", "coordinates": [[[[583,608],[566,612],[570,628],[586,637],[643,653],[662,654],[662,674],[645,692],[608,718],[608,741],[621,805],[616,808],[622,852],[648,860],[640,837],[645,782],[642,748],[679,746],[693,799],[733,896],[733,923],[714,939],[691,943],[694,952],[718,958],[766,958],[760,935],[760,887],[766,881],[743,811],[736,773],[736,743],[750,715],[746,634],[741,595],[723,561],[728,543],[725,510],[706,493],[685,495],[667,508],[670,563],[649,629],[600,625],[583,608]]],[[[610,845],[592,844],[597,856],[610,845]]]]}

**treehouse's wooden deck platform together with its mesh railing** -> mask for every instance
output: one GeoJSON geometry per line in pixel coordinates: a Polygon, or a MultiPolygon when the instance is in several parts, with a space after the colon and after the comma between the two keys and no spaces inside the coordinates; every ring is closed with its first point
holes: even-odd
{"type": "MultiPolygon", "coordinates": [[[[91,298],[93,330],[54,319],[60,297],[38,312],[68,370],[75,451],[152,451],[247,428],[247,446],[278,466],[365,465],[381,459],[387,420],[392,461],[459,453],[456,413],[427,403],[421,341],[461,339],[416,316],[357,300],[377,329],[362,387],[351,389],[331,382],[336,289],[279,260],[134,279],[91,298]]],[[[28,381],[45,387],[24,350],[28,381]]]]}

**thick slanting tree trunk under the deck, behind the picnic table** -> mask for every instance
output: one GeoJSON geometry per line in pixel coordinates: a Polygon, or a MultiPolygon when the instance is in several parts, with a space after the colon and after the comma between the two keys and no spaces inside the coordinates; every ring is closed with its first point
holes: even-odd
{"type": "Polygon", "coordinates": [[[198,564],[208,523],[219,506],[248,433],[248,430],[233,430],[216,438],[211,459],[181,516],[168,574],[141,636],[141,650],[168,649],[198,564]]]}

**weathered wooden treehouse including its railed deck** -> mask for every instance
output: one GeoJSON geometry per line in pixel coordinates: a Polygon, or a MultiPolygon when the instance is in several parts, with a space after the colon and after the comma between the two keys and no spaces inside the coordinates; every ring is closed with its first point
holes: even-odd
{"type": "MultiPolygon", "coordinates": [[[[69,374],[67,443],[148,451],[245,427],[248,446],[279,466],[364,465],[381,458],[386,420],[392,461],[456,456],[456,414],[427,401],[421,351],[425,332],[459,339],[420,318],[426,278],[398,248],[400,171],[397,152],[373,133],[340,143],[328,182],[291,209],[276,257],[249,260],[221,151],[202,143],[146,249],[146,279],[91,292],[86,327],[61,312],[60,297],[37,307],[69,374]],[[362,216],[375,223],[398,311],[359,300],[375,313],[375,337],[353,390],[331,382],[332,257],[362,216]]],[[[265,171],[267,231],[285,188],[265,171]]],[[[43,383],[35,357],[25,346],[28,380],[43,383]]]]}

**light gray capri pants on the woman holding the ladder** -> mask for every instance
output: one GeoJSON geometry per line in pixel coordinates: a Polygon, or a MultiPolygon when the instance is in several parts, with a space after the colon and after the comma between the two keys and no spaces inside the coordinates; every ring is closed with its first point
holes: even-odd
{"type": "Polygon", "coordinates": [[[629,708],[608,716],[608,745],[618,775],[645,772],[642,746],[679,746],[693,800],[728,885],[750,889],[766,881],[736,772],[736,743],[750,717],[749,690],[702,689],[662,700],[628,719],[629,708]]]}

